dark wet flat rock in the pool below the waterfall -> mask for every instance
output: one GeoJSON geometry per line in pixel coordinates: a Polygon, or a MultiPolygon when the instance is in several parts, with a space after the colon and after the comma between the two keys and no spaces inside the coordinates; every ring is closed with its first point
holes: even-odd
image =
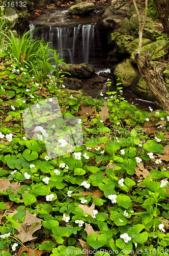
{"type": "Polygon", "coordinates": [[[95,73],[93,66],[87,63],[62,65],[59,66],[59,69],[63,72],[69,72],[72,77],[76,78],[89,78],[95,73]]]}

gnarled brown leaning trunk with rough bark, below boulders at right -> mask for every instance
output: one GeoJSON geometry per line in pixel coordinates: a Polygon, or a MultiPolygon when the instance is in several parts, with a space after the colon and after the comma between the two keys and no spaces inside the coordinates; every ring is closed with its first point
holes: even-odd
{"type": "Polygon", "coordinates": [[[165,70],[164,65],[158,63],[155,66],[149,52],[145,52],[144,56],[137,53],[135,55],[135,61],[140,74],[145,78],[161,108],[164,111],[169,111],[169,94],[162,77],[162,73],[165,70]]]}

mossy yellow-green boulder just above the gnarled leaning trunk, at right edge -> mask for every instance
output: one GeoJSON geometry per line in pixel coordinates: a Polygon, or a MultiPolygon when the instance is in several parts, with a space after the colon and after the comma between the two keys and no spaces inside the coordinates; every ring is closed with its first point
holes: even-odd
{"type": "MultiPolygon", "coordinates": [[[[159,60],[167,54],[166,41],[157,40],[155,42],[151,42],[151,44],[142,47],[140,54],[142,55],[146,51],[150,53],[152,60],[159,60]]],[[[136,51],[134,51],[130,56],[130,60],[133,63],[135,63],[135,54],[136,51]]]]}

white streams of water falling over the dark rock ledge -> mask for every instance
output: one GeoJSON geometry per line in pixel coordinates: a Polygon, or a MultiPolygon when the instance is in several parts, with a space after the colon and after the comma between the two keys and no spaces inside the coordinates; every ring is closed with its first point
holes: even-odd
{"type": "MultiPolygon", "coordinates": [[[[31,24],[30,30],[34,28],[36,26],[31,24]]],[[[104,63],[106,35],[99,24],[79,24],[71,28],[42,26],[35,35],[50,42],[50,48],[59,50],[59,57],[67,63],[86,62],[94,67],[101,67],[104,63]]]]}

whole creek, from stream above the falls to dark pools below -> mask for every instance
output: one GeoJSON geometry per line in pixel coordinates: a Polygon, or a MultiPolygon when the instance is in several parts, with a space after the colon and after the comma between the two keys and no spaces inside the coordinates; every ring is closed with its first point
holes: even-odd
{"type": "MultiPolygon", "coordinates": [[[[34,35],[50,42],[49,47],[58,50],[59,58],[64,59],[66,63],[86,62],[99,74],[100,70],[106,69],[105,60],[108,53],[107,31],[102,27],[100,17],[99,11],[87,17],[70,17],[68,10],[55,10],[33,20],[30,30],[36,29],[34,35]]],[[[106,89],[100,88],[98,84],[86,91],[86,94],[96,98],[101,91],[105,93],[106,89]]],[[[133,101],[137,108],[145,109],[150,105],[155,109],[153,102],[136,99],[135,95],[131,96],[127,92],[124,94],[125,99],[133,101]]]]}

